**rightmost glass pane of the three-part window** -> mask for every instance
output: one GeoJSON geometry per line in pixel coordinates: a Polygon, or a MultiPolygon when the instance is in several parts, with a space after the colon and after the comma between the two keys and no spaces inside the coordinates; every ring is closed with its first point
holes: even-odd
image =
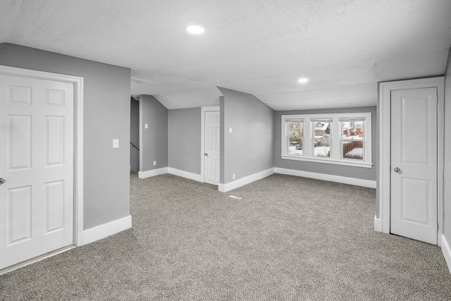
{"type": "Polygon", "coordinates": [[[364,121],[344,121],[342,126],[342,158],[364,159],[364,121]]]}

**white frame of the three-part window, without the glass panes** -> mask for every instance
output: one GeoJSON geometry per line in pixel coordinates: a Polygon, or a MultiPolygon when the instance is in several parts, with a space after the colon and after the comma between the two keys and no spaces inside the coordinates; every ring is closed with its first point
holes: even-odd
{"type": "Polygon", "coordinates": [[[328,113],[328,114],[299,114],[281,116],[281,154],[280,158],[295,161],[308,161],[323,164],[336,164],[345,166],[354,166],[362,168],[371,168],[372,147],[371,147],[371,112],[362,113],[328,113]],[[341,139],[342,128],[340,119],[359,119],[364,120],[364,160],[342,159],[341,139]],[[293,119],[302,119],[304,121],[304,139],[302,146],[302,155],[288,154],[288,121],[293,119]],[[330,157],[314,156],[313,145],[313,123],[312,121],[321,119],[331,119],[330,123],[330,157]],[[335,141],[332,143],[332,141],[335,141]]]}

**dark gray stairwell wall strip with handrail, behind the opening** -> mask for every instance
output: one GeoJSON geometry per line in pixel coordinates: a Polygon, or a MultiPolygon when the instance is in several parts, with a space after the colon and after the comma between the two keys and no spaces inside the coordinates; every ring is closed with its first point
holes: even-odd
{"type": "MultiPolygon", "coordinates": [[[[130,142],[140,148],[140,103],[130,98],[130,142]]],[[[140,151],[130,143],[130,170],[140,171],[140,151]]]]}

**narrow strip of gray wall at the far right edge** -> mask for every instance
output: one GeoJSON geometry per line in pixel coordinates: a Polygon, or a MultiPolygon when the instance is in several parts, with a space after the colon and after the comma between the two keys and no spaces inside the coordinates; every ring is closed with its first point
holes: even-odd
{"type": "MultiPolygon", "coordinates": [[[[451,50],[451,49],[450,49],[451,50]]],[[[445,219],[443,221],[444,235],[448,244],[451,244],[451,51],[448,54],[445,70],[445,219]]]]}

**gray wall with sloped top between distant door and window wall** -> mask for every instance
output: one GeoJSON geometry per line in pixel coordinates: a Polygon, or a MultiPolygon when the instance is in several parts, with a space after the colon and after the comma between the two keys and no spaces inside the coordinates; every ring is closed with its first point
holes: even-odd
{"type": "Polygon", "coordinates": [[[219,88],[221,183],[273,168],[274,111],[252,94],[219,88]],[[232,128],[232,133],[229,133],[232,128]]]}

